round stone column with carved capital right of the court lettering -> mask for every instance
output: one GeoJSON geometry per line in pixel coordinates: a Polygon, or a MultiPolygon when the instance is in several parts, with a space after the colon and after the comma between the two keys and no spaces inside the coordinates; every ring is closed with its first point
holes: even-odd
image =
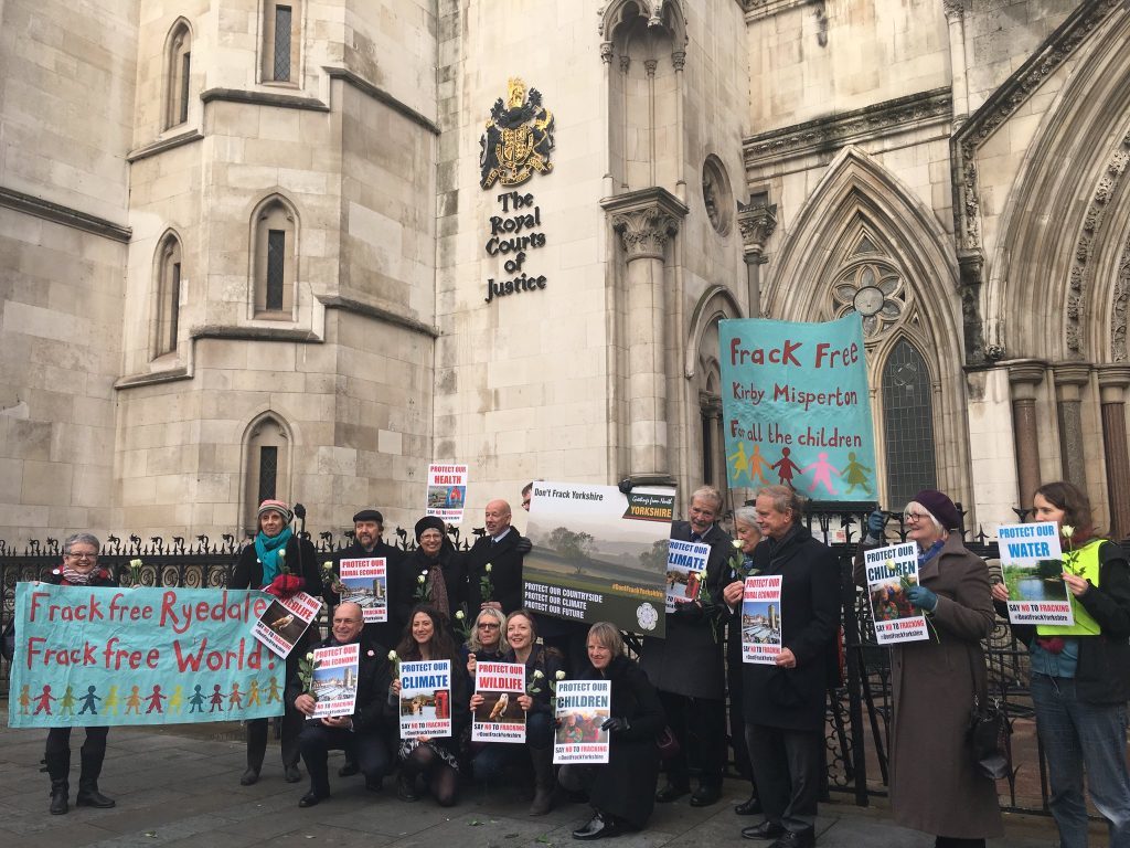
{"type": "Polygon", "coordinates": [[[628,447],[633,478],[671,478],[667,433],[664,254],[687,215],[671,192],[641,189],[601,201],[624,248],[628,447]]]}

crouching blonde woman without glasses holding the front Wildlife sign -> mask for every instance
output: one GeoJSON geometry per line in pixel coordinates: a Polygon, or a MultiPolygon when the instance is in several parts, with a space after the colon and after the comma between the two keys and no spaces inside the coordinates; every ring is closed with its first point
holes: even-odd
{"type": "MultiPolygon", "coordinates": [[[[484,609],[483,612],[487,612],[484,609]]],[[[483,615],[479,615],[483,620],[483,615]]],[[[529,749],[533,762],[533,803],[530,815],[549,812],[554,794],[554,722],[549,707],[549,681],[564,677],[564,659],[553,648],[534,644],[537,625],[528,609],[515,609],[506,616],[506,641],[510,649],[499,663],[519,663],[525,666],[527,693],[518,702],[525,710],[525,746],[488,742],[471,761],[471,771],[479,782],[497,782],[511,759],[529,749]],[[530,694],[532,692],[532,694],[530,694]]],[[[471,710],[483,703],[483,695],[471,695],[471,710]]]]}

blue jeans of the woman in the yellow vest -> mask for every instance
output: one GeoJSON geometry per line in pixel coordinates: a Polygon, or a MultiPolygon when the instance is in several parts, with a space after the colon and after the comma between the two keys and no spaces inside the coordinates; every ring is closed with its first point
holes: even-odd
{"type": "Polygon", "coordinates": [[[1076,698],[1072,677],[1045,674],[1032,675],[1032,702],[1048,756],[1049,806],[1059,825],[1061,848],[1087,848],[1084,768],[1090,799],[1110,828],[1111,848],[1130,848],[1125,706],[1084,703],[1076,698]]]}

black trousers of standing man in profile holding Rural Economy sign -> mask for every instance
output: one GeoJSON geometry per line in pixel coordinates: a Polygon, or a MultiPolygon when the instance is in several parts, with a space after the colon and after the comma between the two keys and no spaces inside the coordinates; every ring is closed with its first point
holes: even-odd
{"type": "Polygon", "coordinates": [[[765,817],[793,832],[811,830],[820,797],[823,733],[746,725],[746,744],[765,817]]]}

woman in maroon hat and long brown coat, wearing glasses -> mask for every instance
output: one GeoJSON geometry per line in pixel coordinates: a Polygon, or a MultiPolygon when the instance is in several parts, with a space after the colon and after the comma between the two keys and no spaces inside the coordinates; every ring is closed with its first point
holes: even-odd
{"type": "MultiPolygon", "coordinates": [[[[983,847],[1003,833],[997,787],[977,772],[966,743],[974,691],[985,698],[981,640],[996,618],[989,569],[963,544],[962,517],[947,495],[919,492],[903,517],[919,551],[919,582],[905,596],[925,615],[930,639],[890,649],[890,806],[898,824],[932,833],[938,848],[983,847]]],[[[887,544],[885,521],[871,513],[855,556],[864,588],[863,551],[887,544]]]]}

